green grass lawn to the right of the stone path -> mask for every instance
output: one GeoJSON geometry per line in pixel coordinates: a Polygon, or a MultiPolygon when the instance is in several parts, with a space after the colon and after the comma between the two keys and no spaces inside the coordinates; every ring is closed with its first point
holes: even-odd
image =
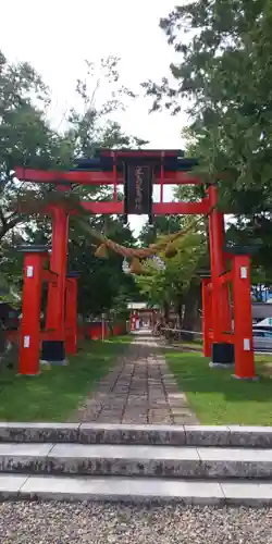
{"type": "Polygon", "coordinates": [[[181,391],[202,424],[272,425],[272,358],[256,357],[259,382],[240,382],[233,371],[209,369],[209,359],[195,353],[165,350],[181,391]]]}

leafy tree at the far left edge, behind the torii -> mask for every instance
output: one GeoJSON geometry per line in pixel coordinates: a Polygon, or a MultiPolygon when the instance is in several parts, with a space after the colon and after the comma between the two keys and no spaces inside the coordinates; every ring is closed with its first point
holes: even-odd
{"type": "Polygon", "coordinates": [[[45,188],[14,181],[12,170],[28,162],[48,168],[61,157],[62,138],[46,118],[48,103],[48,89],[35,70],[27,63],[10,64],[0,52],[0,298],[13,304],[20,304],[23,270],[14,246],[27,230],[17,202],[30,198],[33,189],[41,196],[45,188]]]}

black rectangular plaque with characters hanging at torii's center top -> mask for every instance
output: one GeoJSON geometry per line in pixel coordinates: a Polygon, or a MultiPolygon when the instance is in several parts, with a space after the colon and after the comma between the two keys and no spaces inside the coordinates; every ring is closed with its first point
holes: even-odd
{"type": "Polygon", "coordinates": [[[124,164],[125,215],[152,215],[152,176],[149,164],[124,164]]]}

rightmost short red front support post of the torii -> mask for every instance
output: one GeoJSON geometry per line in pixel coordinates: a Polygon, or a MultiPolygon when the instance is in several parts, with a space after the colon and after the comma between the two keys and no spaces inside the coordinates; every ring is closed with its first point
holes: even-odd
{"type": "Polygon", "coordinates": [[[235,378],[255,379],[250,260],[247,255],[233,259],[235,378]]]}

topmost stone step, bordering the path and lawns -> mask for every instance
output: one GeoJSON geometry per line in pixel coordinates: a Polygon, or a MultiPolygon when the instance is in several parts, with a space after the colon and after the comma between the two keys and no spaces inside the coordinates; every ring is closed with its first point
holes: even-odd
{"type": "Polygon", "coordinates": [[[2,442],[272,448],[272,426],[0,422],[2,442]]]}

